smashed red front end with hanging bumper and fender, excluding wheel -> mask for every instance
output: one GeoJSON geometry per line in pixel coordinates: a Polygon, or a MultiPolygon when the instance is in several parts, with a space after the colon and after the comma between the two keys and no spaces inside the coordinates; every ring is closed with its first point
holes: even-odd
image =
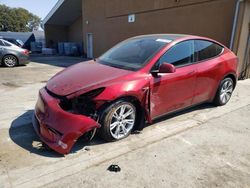
{"type": "Polygon", "coordinates": [[[130,100],[137,108],[134,130],[142,130],[145,120],[151,122],[147,79],[100,84],[75,92],[72,89],[67,93],[64,92],[65,88],[70,85],[60,86],[61,90],[54,85],[49,84],[40,90],[33,126],[42,142],[58,153],[69,153],[83,135],[91,139],[101,127],[98,122],[103,110],[121,98],[130,100]]]}

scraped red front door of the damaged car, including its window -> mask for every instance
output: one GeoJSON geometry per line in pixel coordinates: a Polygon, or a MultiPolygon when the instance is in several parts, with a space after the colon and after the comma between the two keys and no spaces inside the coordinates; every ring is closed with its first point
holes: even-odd
{"type": "Polygon", "coordinates": [[[174,45],[158,60],[153,70],[159,69],[162,63],[173,64],[176,72],[152,75],[150,103],[152,118],[192,104],[196,83],[194,41],[188,40],[174,45]]]}

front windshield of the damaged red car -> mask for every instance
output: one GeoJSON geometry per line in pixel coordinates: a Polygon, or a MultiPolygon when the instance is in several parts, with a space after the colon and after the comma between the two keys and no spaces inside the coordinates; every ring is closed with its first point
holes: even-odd
{"type": "Polygon", "coordinates": [[[102,55],[101,64],[127,69],[139,70],[166,45],[166,40],[155,38],[133,38],[126,40],[102,55]]]}

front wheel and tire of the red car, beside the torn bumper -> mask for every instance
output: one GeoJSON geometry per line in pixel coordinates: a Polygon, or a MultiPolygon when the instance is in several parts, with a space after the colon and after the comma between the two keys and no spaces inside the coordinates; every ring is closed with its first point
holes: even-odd
{"type": "Polygon", "coordinates": [[[126,100],[118,100],[107,107],[101,116],[101,137],[117,141],[128,137],[136,121],[136,107],[126,100]]]}

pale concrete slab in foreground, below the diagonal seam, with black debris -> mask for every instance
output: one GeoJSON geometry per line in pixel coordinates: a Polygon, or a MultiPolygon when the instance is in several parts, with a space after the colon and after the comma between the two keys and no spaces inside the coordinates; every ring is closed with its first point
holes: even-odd
{"type": "Polygon", "coordinates": [[[250,105],[46,187],[250,187],[249,113],[250,105]]]}

